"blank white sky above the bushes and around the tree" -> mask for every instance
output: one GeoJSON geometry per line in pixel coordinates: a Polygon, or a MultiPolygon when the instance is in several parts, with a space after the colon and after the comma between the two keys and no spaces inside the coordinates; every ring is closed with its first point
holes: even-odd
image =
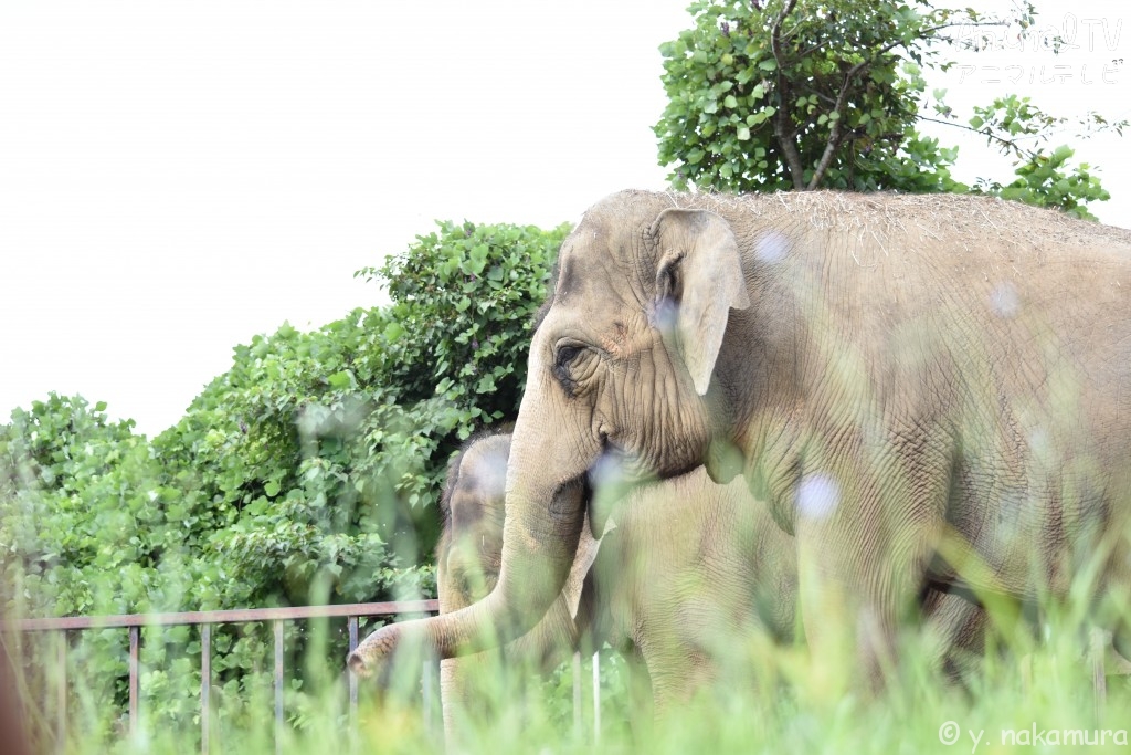
{"type": "MultiPolygon", "coordinates": [[[[657,48],[687,3],[0,5],[0,422],[57,391],[154,435],[238,343],[377,303],[353,272],[433,218],[549,228],[663,188],[657,48]]],[[[1038,6],[1078,48],[970,58],[952,104],[1131,117],[1131,14],[1038,6]]],[[[959,178],[993,164],[943,141],[959,178]]],[[[1131,225],[1131,141],[1079,147],[1131,225]]]]}

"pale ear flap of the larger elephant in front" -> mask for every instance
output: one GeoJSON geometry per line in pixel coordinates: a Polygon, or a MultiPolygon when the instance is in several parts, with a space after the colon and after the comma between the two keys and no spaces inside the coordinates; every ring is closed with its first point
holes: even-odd
{"type": "Polygon", "coordinates": [[[651,228],[659,248],[655,311],[674,328],[696,392],[707,393],[731,309],[750,306],[729,223],[705,209],[665,209],[651,228]]]}

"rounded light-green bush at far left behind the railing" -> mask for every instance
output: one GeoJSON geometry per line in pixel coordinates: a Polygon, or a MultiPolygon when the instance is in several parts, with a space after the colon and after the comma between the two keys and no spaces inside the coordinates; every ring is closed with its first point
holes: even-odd
{"type": "MultiPolygon", "coordinates": [[[[105,409],[51,394],[0,426],[0,584],[11,590],[0,607],[5,616],[163,611],[191,600],[200,572],[191,533],[175,515],[183,496],[164,484],[132,421],[112,422],[105,409]]],[[[110,737],[124,726],[126,636],[69,638],[71,674],[81,669],[83,692],[120,703],[93,732],[110,737]]],[[[183,658],[187,641],[179,627],[147,649],[146,661],[183,658]]],[[[199,685],[199,676],[182,675],[155,719],[174,720],[191,707],[193,681],[199,685]]]]}

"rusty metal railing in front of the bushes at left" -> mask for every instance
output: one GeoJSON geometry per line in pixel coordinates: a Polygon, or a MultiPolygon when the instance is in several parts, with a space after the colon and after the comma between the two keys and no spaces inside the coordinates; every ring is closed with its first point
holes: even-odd
{"type": "MultiPolygon", "coordinates": [[[[282,744],[283,719],[283,623],[305,619],[345,618],[349,633],[349,651],[357,646],[357,623],[360,618],[402,615],[437,614],[439,601],[411,600],[382,603],[346,603],[338,606],[301,606],[292,608],[247,608],[226,611],[183,611],[179,614],[129,614],[121,616],[69,616],[63,618],[18,619],[2,624],[5,629],[16,632],[54,632],[61,634],[55,662],[62,678],[58,685],[57,741],[60,749],[67,733],[67,633],[86,629],[126,628],[129,630],[129,720],[131,733],[138,722],[139,662],[141,629],[156,626],[192,625],[200,629],[200,750],[208,753],[209,698],[211,696],[211,627],[216,624],[241,624],[245,621],[270,621],[275,635],[275,743],[276,752],[282,744]]],[[[425,685],[428,676],[425,676],[425,685]]],[[[425,695],[425,700],[430,700],[425,695]]],[[[349,714],[357,711],[357,679],[349,675],[349,714]]]]}

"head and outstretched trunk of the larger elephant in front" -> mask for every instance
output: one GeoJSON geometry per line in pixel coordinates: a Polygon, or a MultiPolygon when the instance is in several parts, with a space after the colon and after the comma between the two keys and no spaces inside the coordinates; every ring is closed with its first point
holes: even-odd
{"type": "Polygon", "coordinates": [[[706,461],[723,475],[711,462],[727,461],[714,452],[734,413],[713,372],[729,312],[750,303],[744,273],[723,218],[665,196],[615,195],[562,244],[515,427],[494,590],[373,633],[348,659],[356,674],[380,668],[405,636],[450,658],[529,630],[569,575],[598,467],[665,478],[706,461]]]}

